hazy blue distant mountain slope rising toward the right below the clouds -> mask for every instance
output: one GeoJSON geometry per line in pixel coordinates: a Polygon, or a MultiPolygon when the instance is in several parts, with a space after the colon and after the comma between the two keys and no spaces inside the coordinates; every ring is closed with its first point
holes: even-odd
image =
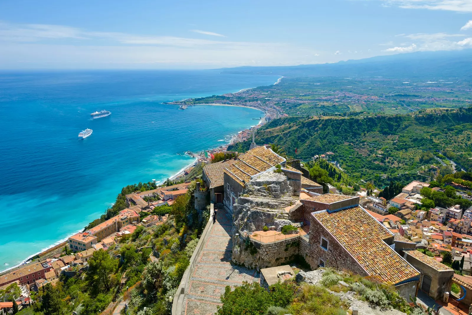
{"type": "Polygon", "coordinates": [[[462,78],[472,77],[472,49],[459,51],[421,51],[390,56],[377,56],[337,63],[299,66],[242,66],[223,68],[222,73],[306,76],[385,76],[462,78]]]}

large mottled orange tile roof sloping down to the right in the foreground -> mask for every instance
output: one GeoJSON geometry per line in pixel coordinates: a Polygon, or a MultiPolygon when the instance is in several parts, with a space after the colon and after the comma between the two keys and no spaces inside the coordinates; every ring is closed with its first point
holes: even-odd
{"type": "Polygon", "coordinates": [[[392,238],[362,207],[312,214],[372,276],[396,284],[419,273],[383,240],[392,238]]]}

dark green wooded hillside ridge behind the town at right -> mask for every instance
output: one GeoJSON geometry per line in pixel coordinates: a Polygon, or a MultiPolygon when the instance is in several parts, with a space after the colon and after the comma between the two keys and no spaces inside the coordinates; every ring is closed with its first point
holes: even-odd
{"type": "MultiPolygon", "coordinates": [[[[347,174],[376,185],[393,176],[424,181],[437,172],[452,173],[446,156],[465,170],[472,168],[471,122],[472,107],[396,116],[287,117],[261,127],[256,143],[275,143],[305,161],[331,151],[329,160],[339,162],[347,174]]],[[[228,150],[244,152],[249,145],[245,141],[228,150]]]]}

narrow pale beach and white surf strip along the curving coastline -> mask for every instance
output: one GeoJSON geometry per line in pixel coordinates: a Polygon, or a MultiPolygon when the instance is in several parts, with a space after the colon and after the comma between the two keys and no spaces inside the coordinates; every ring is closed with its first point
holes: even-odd
{"type": "MultiPolygon", "coordinates": [[[[280,82],[280,80],[281,80],[282,78],[283,78],[283,77],[280,77],[280,78],[278,79],[278,81],[277,81],[276,83],[274,83],[274,84],[277,84],[278,82],[280,82]]],[[[230,93],[230,94],[236,94],[236,93],[243,92],[243,91],[247,91],[247,90],[251,90],[251,89],[253,89],[253,87],[252,87],[252,88],[241,89],[241,90],[239,90],[239,91],[237,91],[237,92],[232,92],[232,93],[230,93]]],[[[163,102],[163,103],[165,104],[165,102],[163,102]]],[[[173,105],[174,105],[174,104],[176,104],[176,103],[173,103],[173,105]]],[[[244,105],[234,105],[234,104],[195,104],[195,105],[210,105],[210,106],[229,106],[229,107],[252,108],[252,109],[256,109],[256,110],[259,110],[259,111],[264,112],[264,113],[265,113],[265,116],[267,115],[267,112],[266,112],[265,110],[261,109],[261,108],[255,108],[255,107],[244,106],[244,105]]],[[[264,118],[265,118],[265,116],[264,116],[264,118]]],[[[249,127],[246,127],[245,129],[243,129],[243,130],[237,132],[235,135],[233,135],[233,136],[231,137],[231,139],[230,139],[225,145],[216,146],[216,147],[212,148],[211,151],[213,151],[213,150],[218,150],[218,149],[221,150],[221,149],[227,148],[228,145],[234,143],[234,140],[236,139],[236,137],[237,137],[238,134],[240,134],[240,133],[242,133],[242,132],[244,132],[244,131],[247,131],[247,130],[251,130],[253,127],[255,127],[255,126],[257,126],[257,125],[262,125],[263,122],[265,121],[264,118],[262,118],[262,119],[259,121],[258,124],[256,124],[256,125],[251,125],[251,126],[249,126],[249,127]]],[[[208,150],[208,149],[202,149],[202,151],[210,151],[210,150],[208,150]]],[[[195,154],[195,155],[197,155],[197,154],[195,154]]],[[[199,155],[198,157],[201,157],[201,156],[199,155]]],[[[185,173],[185,170],[186,170],[187,168],[189,168],[189,167],[191,167],[191,166],[194,166],[195,163],[198,162],[198,160],[199,160],[198,157],[195,157],[195,160],[194,160],[192,163],[188,164],[187,166],[185,166],[185,167],[183,167],[182,169],[180,169],[179,171],[177,171],[174,175],[172,175],[171,177],[169,177],[169,179],[170,179],[170,180],[175,180],[176,178],[181,177],[181,176],[185,173]]],[[[164,182],[164,181],[165,181],[165,179],[161,180],[160,182],[157,182],[157,184],[161,184],[161,183],[164,182]]],[[[65,243],[65,242],[67,241],[67,239],[68,239],[70,236],[76,234],[77,232],[82,232],[82,231],[83,231],[83,229],[80,229],[80,230],[78,230],[78,231],[76,231],[76,232],[73,232],[73,233],[67,235],[67,237],[65,237],[65,238],[63,238],[63,239],[60,239],[60,240],[54,242],[54,243],[51,244],[50,246],[47,246],[47,247],[43,248],[41,251],[38,251],[38,252],[36,252],[36,253],[34,253],[34,254],[32,254],[32,255],[26,257],[25,259],[23,259],[21,262],[17,263],[16,265],[13,265],[13,266],[4,265],[5,267],[8,267],[8,268],[6,268],[6,269],[0,271],[0,274],[5,274],[5,273],[7,273],[8,271],[11,271],[11,270],[13,270],[13,269],[16,269],[16,268],[22,266],[22,265],[27,264],[27,263],[30,261],[31,258],[33,258],[33,257],[35,257],[35,256],[38,256],[38,255],[41,255],[41,254],[43,254],[43,253],[46,253],[47,251],[51,250],[52,248],[54,248],[54,247],[56,247],[56,246],[58,246],[58,245],[60,245],[60,244],[62,244],[62,243],[65,243]]]]}

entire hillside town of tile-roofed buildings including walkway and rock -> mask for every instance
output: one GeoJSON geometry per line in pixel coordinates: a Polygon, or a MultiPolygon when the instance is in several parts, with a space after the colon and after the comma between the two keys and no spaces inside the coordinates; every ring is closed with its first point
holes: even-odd
{"type": "MultiPolygon", "coordinates": [[[[245,133],[244,138],[253,134],[245,133]]],[[[86,273],[96,252],[109,252],[122,260],[117,249],[124,246],[123,240],[129,241],[137,229],[152,231],[169,220],[174,222],[170,214],[156,214],[156,210],[171,208],[188,194],[199,217],[210,209],[213,219],[205,231],[219,232],[203,232],[187,268],[194,275],[189,280],[184,274],[180,281],[171,299],[172,314],[198,314],[201,309],[217,312],[218,294],[202,298],[192,289],[211,289],[205,273],[212,274],[217,283],[238,286],[241,283],[231,276],[228,280],[227,274],[254,270],[248,281],[269,287],[280,281],[280,274],[287,274],[283,279],[295,277],[293,257],[301,257],[308,268],[297,275],[298,282],[329,267],[393,286],[405,300],[416,297],[424,305],[434,301],[441,314],[468,314],[472,309],[472,206],[422,205],[431,193],[455,192],[453,187],[430,188],[430,183],[413,181],[389,199],[381,197],[375,187],[360,187],[354,195],[344,195],[332,185],[313,181],[300,160],[281,156],[270,145],[253,141],[245,153],[223,152],[219,162],[200,158],[202,173],[189,181],[126,194],[126,208],[118,215],[70,236],[59,250],[48,250],[2,273],[0,290],[11,290],[14,285],[21,294],[15,301],[0,303],[1,311],[13,310],[13,302],[19,309],[32,307],[34,292],[86,273]],[[209,253],[222,255],[221,262],[204,263],[209,253]],[[229,269],[213,274],[222,263],[229,269]]],[[[326,152],[313,160],[327,160],[330,155],[326,152]]],[[[472,197],[466,194],[464,198],[472,197]]],[[[159,262],[163,252],[146,255],[149,261],[159,262]]],[[[129,278],[126,272],[120,277],[119,290],[126,291],[129,278]]],[[[353,314],[357,310],[351,307],[353,314]]]]}

